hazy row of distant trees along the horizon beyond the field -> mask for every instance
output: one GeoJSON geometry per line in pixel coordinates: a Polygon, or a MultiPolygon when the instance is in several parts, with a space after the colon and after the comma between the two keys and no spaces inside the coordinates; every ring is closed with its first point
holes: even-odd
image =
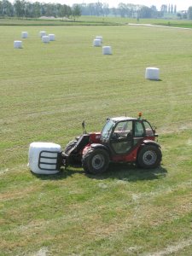
{"type": "Polygon", "coordinates": [[[185,16],[177,14],[177,6],[163,4],[160,10],[154,5],[147,7],[132,3],[119,3],[117,8],[109,8],[108,3],[81,3],[73,4],[72,7],[61,3],[31,3],[26,0],[15,0],[10,3],[8,0],[0,0],[1,17],[39,18],[41,16],[54,16],[59,18],[75,18],[80,15],[96,16],[120,16],[125,18],[162,18],[167,14],[177,15],[192,19],[192,7],[186,11],[185,16]]]}

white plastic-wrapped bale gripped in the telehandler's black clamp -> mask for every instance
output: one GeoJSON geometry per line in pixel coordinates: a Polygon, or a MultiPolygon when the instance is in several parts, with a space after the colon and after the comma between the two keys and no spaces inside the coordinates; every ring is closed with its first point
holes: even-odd
{"type": "Polygon", "coordinates": [[[31,143],[28,166],[37,174],[60,172],[61,146],[55,143],[31,143]]]}

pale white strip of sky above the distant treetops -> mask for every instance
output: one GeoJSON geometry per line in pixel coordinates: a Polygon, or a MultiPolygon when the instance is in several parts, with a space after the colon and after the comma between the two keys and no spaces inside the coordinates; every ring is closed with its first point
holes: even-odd
{"type": "MultiPolygon", "coordinates": [[[[36,2],[35,0],[29,2],[36,2]]],[[[134,3],[134,4],[143,4],[148,7],[155,5],[157,9],[160,10],[162,4],[173,4],[177,5],[178,10],[187,10],[189,6],[192,6],[191,0],[38,0],[40,3],[61,3],[72,6],[73,3],[108,3],[109,7],[117,7],[119,3],[134,3]]]]}

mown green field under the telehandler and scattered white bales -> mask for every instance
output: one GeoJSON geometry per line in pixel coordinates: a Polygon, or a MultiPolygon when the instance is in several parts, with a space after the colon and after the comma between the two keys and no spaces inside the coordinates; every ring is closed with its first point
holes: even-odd
{"type": "Polygon", "coordinates": [[[144,26],[0,26],[0,255],[191,255],[192,31],[144,26]],[[23,49],[14,49],[22,31],[23,49]],[[39,31],[55,33],[43,44],[39,31]],[[92,47],[102,35],[113,55],[92,47]],[[160,81],[144,79],[160,68],[160,81]],[[157,126],[160,168],[100,176],[27,168],[29,144],[100,131],[110,116],[157,126]]]}

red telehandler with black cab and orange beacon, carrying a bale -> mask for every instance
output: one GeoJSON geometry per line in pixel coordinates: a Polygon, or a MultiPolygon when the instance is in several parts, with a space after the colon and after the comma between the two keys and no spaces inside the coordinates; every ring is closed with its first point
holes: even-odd
{"type": "MultiPolygon", "coordinates": [[[[84,128],[84,122],[83,122],[84,128]]],[[[158,135],[147,119],[116,117],[107,119],[102,132],[87,133],[68,143],[61,153],[63,166],[82,163],[84,172],[102,173],[110,162],[136,163],[142,168],[160,166],[162,154],[158,135]]]]}

